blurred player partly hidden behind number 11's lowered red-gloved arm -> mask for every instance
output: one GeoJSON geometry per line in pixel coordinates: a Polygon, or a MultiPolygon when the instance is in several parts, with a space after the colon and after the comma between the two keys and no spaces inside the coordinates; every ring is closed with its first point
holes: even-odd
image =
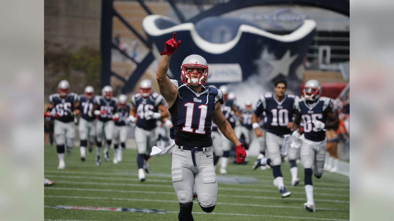
{"type": "MultiPolygon", "coordinates": [[[[221,105],[221,111],[225,116],[226,120],[230,123],[231,128],[234,130],[237,116],[239,115],[238,108],[235,104],[234,97],[229,99],[229,88],[226,85],[219,87],[219,90],[223,93],[224,103],[221,105]]],[[[220,160],[220,173],[227,174],[227,164],[229,162],[229,155],[231,151],[232,143],[228,140],[223,133],[221,134],[221,149],[223,155],[220,160]]]]}

